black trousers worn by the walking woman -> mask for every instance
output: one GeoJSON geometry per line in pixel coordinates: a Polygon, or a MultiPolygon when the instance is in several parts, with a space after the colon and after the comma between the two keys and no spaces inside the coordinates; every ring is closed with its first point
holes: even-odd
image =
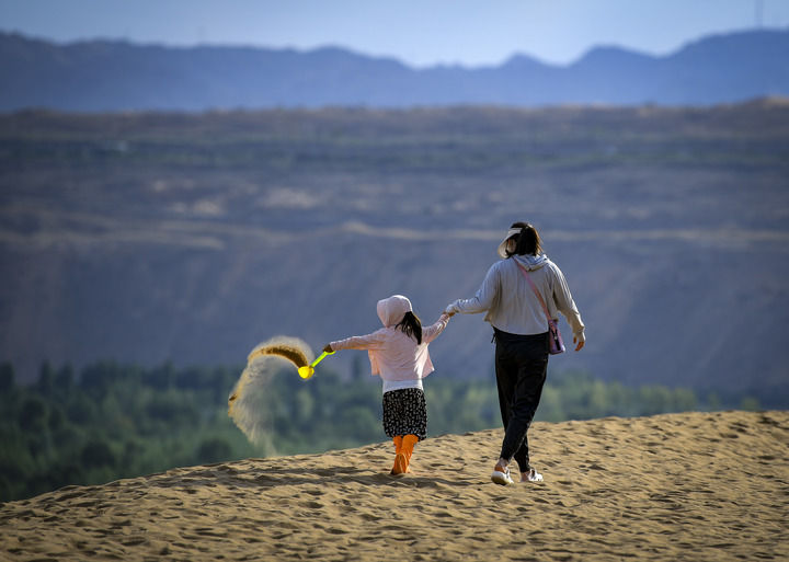
{"type": "Polygon", "coordinates": [[[499,406],[504,424],[501,457],[517,461],[521,472],[531,468],[528,428],[542,395],[548,370],[548,332],[517,335],[495,330],[495,371],[499,406]]]}

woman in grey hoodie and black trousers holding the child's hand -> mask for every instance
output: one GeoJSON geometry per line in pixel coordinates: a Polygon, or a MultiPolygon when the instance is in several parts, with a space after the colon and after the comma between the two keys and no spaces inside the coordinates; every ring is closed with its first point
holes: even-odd
{"type": "Polygon", "coordinates": [[[512,484],[510,462],[514,458],[522,482],[540,482],[542,474],[529,463],[526,433],[546,380],[548,319],[519,266],[528,271],[551,318],[557,320],[557,311],[567,318],[576,352],[586,341],[584,324],[564,275],[542,253],[537,229],[527,222],[515,222],[499,244],[498,253],[502,261],[488,271],[477,295],[450,303],[446,313],[487,312],[484,319],[493,326],[499,405],[505,433],[491,480],[496,484],[512,484]]]}

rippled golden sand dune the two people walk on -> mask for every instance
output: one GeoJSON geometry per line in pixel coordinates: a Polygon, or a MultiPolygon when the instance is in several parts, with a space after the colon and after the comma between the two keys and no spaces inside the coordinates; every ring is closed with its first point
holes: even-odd
{"type": "Polygon", "coordinates": [[[501,436],[67,486],[0,506],[0,560],[789,560],[789,412],[538,423],[541,484],[490,482],[501,436]]]}

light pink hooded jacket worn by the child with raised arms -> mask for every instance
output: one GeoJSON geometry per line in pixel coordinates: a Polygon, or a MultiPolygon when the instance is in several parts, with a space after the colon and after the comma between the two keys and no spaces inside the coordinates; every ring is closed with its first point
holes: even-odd
{"type": "Polygon", "coordinates": [[[422,326],[422,343],[396,328],[412,311],[411,301],[402,295],[379,300],[376,307],[384,328],[367,335],[356,335],[331,342],[338,349],[367,349],[373,375],[384,380],[418,380],[433,372],[433,363],[427,344],[438,337],[449,323],[449,317],[442,314],[436,323],[422,326]]]}

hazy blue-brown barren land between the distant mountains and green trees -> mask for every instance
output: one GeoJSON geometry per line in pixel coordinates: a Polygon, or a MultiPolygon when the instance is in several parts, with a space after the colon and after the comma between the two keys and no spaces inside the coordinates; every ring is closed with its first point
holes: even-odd
{"type": "MultiPolygon", "coordinates": [[[[0,360],[243,364],[368,333],[392,294],[432,322],[529,220],[588,326],[551,368],[786,408],[788,208],[778,100],[1,115],[0,360]]],[[[490,377],[490,337],[453,319],[436,376],[490,377]]]]}

